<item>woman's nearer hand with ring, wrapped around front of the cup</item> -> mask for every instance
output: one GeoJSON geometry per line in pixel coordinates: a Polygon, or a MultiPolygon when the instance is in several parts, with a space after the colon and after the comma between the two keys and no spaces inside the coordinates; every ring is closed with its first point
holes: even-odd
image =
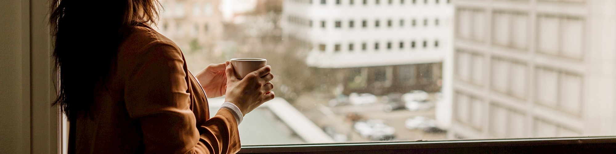
{"type": "Polygon", "coordinates": [[[264,102],[274,99],[274,84],[270,83],[274,75],[267,65],[259,70],[248,73],[243,79],[238,79],[229,61],[225,62],[227,75],[227,92],[225,102],[235,104],[243,115],[253,111],[264,102]]]}

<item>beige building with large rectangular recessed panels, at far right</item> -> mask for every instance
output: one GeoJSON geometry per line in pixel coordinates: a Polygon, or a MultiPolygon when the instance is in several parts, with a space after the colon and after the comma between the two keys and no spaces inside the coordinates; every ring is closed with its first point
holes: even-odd
{"type": "Polygon", "coordinates": [[[616,1],[455,1],[450,137],[615,134],[616,1]]]}

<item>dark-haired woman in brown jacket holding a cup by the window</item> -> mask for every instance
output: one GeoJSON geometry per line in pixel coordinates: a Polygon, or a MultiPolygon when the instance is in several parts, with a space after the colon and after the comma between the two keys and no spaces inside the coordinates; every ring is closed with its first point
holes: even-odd
{"type": "Polygon", "coordinates": [[[193,76],[176,44],[148,26],[157,6],[51,1],[54,103],[70,121],[69,153],[235,153],[243,116],[274,99],[269,66],[241,80],[229,62],[193,76]],[[211,118],[206,94],[226,95],[211,118]]]}

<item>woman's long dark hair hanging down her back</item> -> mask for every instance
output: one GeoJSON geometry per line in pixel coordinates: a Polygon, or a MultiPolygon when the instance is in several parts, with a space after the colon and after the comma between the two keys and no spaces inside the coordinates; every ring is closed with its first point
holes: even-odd
{"type": "Polygon", "coordinates": [[[105,86],[118,46],[132,26],[158,18],[158,0],[51,0],[59,91],[54,105],[74,120],[105,86]]]}

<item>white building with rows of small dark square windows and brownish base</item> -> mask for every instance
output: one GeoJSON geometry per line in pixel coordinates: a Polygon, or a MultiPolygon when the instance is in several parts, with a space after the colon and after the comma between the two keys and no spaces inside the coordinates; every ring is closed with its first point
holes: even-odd
{"type": "Polygon", "coordinates": [[[308,44],[311,67],[340,70],[346,94],[435,92],[452,16],[445,0],[289,0],[283,37],[308,44]]]}

